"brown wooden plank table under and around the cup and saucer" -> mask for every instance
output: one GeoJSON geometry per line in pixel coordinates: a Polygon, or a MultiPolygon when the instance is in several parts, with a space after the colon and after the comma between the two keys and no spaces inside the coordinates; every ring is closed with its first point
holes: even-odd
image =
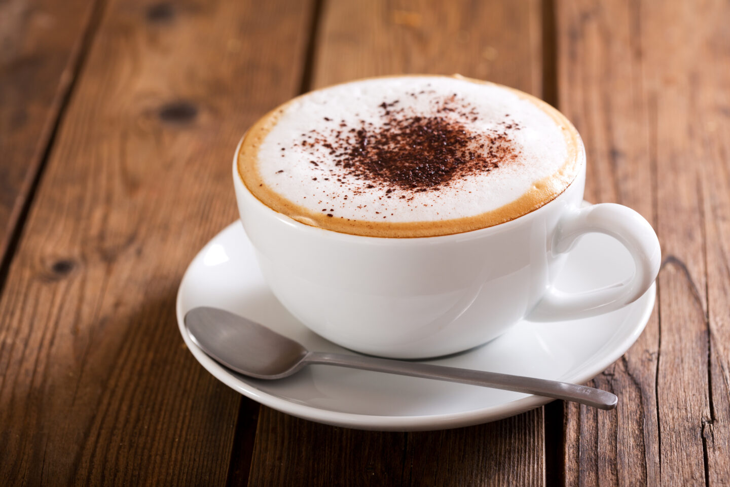
{"type": "Polygon", "coordinates": [[[0,3],[0,485],[730,485],[730,4],[0,3]],[[204,371],[177,285],[235,218],[230,161],[297,93],[458,72],[541,96],[587,199],[661,240],[638,342],[504,421],[380,433],[292,418],[204,371]]]}

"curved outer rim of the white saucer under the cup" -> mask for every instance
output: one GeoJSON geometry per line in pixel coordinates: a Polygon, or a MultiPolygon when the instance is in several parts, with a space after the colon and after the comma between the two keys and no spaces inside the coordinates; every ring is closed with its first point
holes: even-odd
{"type": "MultiPolygon", "coordinates": [[[[261,391],[252,384],[247,383],[241,377],[234,375],[233,372],[230,372],[220,366],[220,364],[215,362],[212,358],[210,358],[210,356],[204,353],[203,350],[195,345],[191,340],[191,337],[188,335],[188,332],[185,330],[185,323],[183,321],[185,312],[183,311],[182,289],[183,284],[186,282],[186,279],[188,279],[188,274],[191,272],[193,264],[204,255],[205,250],[207,250],[212,243],[220,239],[223,234],[228,231],[232,231],[234,226],[237,225],[241,226],[240,220],[234,221],[215,234],[215,236],[212,237],[190,261],[190,264],[188,264],[187,269],[185,269],[185,274],[183,275],[182,280],[180,280],[180,285],[177,289],[175,314],[177,316],[177,326],[180,334],[183,336],[185,345],[188,350],[191,351],[196,361],[198,361],[199,364],[207,370],[207,372],[213,375],[213,377],[226,384],[226,386],[234,389],[234,391],[237,391],[239,394],[247,396],[249,399],[253,399],[259,404],[271,407],[272,409],[278,410],[282,413],[296,416],[297,418],[316,421],[318,423],[326,423],[331,426],[379,431],[429,431],[435,429],[451,429],[462,426],[473,426],[475,424],[488,423],[502,418],[507,418],[512,415],[518,415],[555,400],[530,395],[510,402],[485,407],[483,409],[469,410],[460,413],[392,416],[343,413],[342,411],[328,410],[323,407],[299,404],[289,399],[284,399],[280,396],[274,396],[273,394],[261,391]]],[[[642,331],[644,331],[649,321],[656,302],[656,282],[652,283],[651,287],[637,300],[637,302],[628,304],[627,306],[637,305],[638,302],[645,299],[646,296],[648,296],[648,301],[642,310],[640,318],[637,320],[637,325],[626,334],[626,337],[624,337],[621,343],[612,348],[611,353],[605,353],[602,360],[593,361],[593,365],[591,367],[586,367],[572,375],[558,377],[556,380],[577,384],[586,383],[588,380],[591,380],[593,377],[596,377],[596,375],[599,375],[607,369],[607,367],[617,361],[618,358],[621,358],[621,356],[626,353],[626,350],[629,350],[631,345],[637,341],[639,335],[642,334],[642,331]]]]}

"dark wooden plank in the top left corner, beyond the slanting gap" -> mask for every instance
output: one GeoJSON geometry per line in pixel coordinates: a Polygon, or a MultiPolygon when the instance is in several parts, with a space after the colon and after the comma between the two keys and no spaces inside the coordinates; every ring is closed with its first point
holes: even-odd
{"type": "Polygon", "coordinates": [[[95,3],[0,4],[0,262],[82,58],[95,3]]]}

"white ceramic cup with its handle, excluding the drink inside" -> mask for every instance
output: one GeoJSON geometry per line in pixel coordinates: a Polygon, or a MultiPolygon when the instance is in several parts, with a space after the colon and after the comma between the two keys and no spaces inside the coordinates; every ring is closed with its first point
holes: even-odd
{"type": "Polygon", "coordinates": [[[617,310],[648,290],[661,261],[656,234],[629,207],[583,207],[583,147],[580,154],[580,174],[538,210],[438,237],[362,237],[299,223],[247,190],[236,157],[234,187],[261,270],[301,323],[358,352],[426,358],[481,345],[523,318],[617,310]],[[634,258],[634,275],[579,294],[558,291],[553,282],[566,253],[591,232],[618,239],[634,258]]]}

